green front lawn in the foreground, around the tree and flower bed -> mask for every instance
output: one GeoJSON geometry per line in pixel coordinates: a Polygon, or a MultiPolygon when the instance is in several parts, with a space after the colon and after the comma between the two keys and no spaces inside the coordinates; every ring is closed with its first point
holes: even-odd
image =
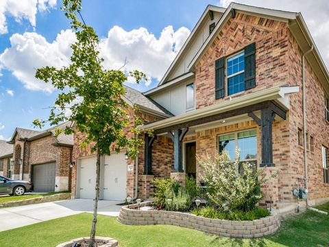
{"type": "MultiPolygon", "coordinates": [[[[91,219],[90,213],[81,213],[0,232],[1,246],[56,246],[88,236],[91,219]]],[[[275,235],[260,239],[230,239],[177,226],[127,226],[104,215],[98,219],[97,235],[114,237],[121,247],[329,246],[329,216],[313,211],[288,217],[275,235]]]]}

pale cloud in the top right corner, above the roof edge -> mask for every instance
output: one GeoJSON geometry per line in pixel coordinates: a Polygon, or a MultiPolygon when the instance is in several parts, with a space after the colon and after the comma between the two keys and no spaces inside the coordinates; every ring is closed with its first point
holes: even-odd
{"type": "MultiPolygon", "coordinates": [[[[227,7],[231,1],[220,0],[220,5],[227,7]]],[[[328,0],[234,0],[237,3],[254,5],[274,10],[286,10],[290,12],[302,12],[310,34],[320,51],[327,67],[329,65],[329,4],[328,0]]]]}

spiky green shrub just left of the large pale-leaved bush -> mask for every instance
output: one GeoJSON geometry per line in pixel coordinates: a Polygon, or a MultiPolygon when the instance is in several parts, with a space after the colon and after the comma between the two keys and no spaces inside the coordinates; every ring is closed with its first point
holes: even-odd
{"type": "Polygon", "coordinates": [[[166,197],[166,209],[170,211],[188,211],[191,207],[191,195],[185,188],[180,187],[178,193],[175,193],[174,188],[167,190],[166,197]],[[171,204],[168,204],[167,199],[171,199],[171,204]]]}

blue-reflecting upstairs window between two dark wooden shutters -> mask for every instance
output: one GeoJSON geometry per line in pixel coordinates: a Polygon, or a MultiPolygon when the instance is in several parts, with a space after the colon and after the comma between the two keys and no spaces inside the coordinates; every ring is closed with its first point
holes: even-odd
{"type": "Polygon", "coordinates": [[[240,52],[227,60],[228,95],[245,91],[245,53],[240,52]]]}

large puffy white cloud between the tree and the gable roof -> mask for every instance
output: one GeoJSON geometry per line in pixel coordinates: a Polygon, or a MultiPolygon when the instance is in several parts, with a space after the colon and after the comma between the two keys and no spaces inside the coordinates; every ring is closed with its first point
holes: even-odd
{"type": "Polygon", "coordinates": [[[138,69],[160,80],[189,34],[186,27],[174,31],[169,25],[157,39],[144,27],[127,32],[114,26],[101,40],[101,55],[110,69],[119,69],[127,59],[126,69],[138,69]]]}

